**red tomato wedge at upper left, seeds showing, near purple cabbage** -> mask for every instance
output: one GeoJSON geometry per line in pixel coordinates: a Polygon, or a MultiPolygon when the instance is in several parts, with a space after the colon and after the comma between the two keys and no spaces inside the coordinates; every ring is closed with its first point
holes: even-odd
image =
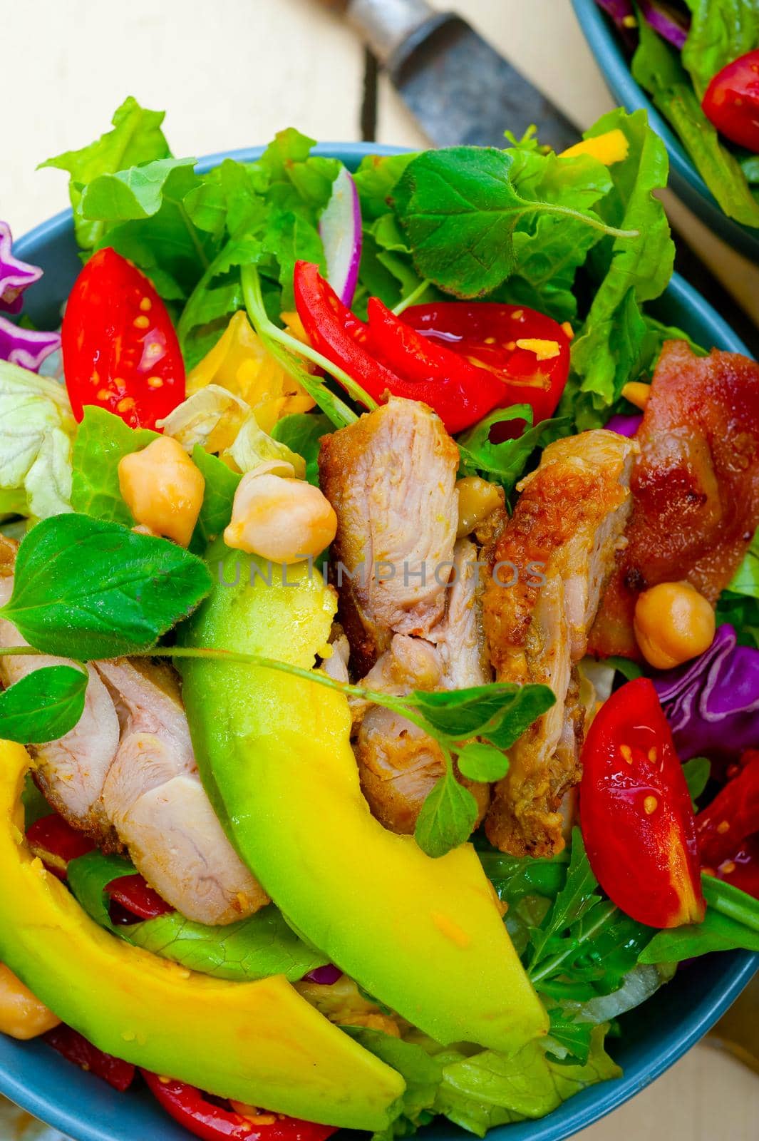
{"type": "Polygon", "coordinates": [[[98,250],[80,273],[60,337],[76,420],[96,404],[131,428],[155,428],[185,399],[185,363],[166,307],[115,250],[98,250]]]}

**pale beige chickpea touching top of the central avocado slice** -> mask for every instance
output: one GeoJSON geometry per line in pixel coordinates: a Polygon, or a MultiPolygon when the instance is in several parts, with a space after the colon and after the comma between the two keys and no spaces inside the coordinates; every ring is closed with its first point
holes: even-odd
{"type": "Polygon", "coordinates": [[[320,555],[337,532],[326,496],[302,479],[248,471],[235,492],[225,542],[272,563],[297,563],[320,555]]]}

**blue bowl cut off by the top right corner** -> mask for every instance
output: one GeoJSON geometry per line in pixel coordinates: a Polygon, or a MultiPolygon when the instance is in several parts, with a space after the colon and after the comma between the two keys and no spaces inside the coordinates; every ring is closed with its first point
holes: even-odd
{"type": "Polygon", "coordinates": [[[742,226],[723,211],[675,131],[656,111],[643,88],[632,79],[629,59],[612,22],[595,0],[572,0],[572,5],[614,99],[630,112],[644,107],[648,112],[651,126],[664,140],[670,162],[671,189],[694,215],[738,253],[751,258],[752,261],[759,261],[759,229],[742,226]]]}

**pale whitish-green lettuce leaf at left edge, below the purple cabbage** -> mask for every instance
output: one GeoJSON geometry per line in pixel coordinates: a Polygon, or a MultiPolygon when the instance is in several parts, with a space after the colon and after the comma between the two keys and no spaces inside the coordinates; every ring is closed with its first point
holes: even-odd
{"type": "Polygon", "coordinates": [[[1,509],[38,519],[71,511],[71,438],[76,424],[65,388],[0,361],[1,509]]]}

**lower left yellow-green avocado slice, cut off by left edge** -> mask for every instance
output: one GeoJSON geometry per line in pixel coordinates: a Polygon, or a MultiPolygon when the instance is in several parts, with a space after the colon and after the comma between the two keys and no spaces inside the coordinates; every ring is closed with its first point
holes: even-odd
{"type": "Polygon", "coordinates": [[[382,1130],[403,1079],[283,976],[227,982],[99,928],[24,842],[26,750],[0,742],[0,958],[100,1050],[210,1093],[307,1120],[382,1130]]]}

